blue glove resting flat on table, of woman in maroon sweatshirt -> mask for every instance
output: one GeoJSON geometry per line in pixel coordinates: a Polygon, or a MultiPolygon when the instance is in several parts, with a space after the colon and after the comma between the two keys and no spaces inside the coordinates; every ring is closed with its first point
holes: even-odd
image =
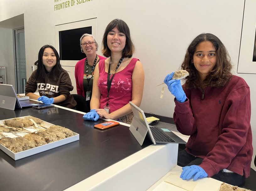
{"type": "Polygon", "coordinates": [[[204,169],[197,165],[185,166],[185,167],[182,167],[182,170],[183,171],[180,175],[180,178],[182,178],[182,180],[189,180],[193,175],[194,175],[193,180],[208,176],[208,174],[204,171],[204,169]]]}

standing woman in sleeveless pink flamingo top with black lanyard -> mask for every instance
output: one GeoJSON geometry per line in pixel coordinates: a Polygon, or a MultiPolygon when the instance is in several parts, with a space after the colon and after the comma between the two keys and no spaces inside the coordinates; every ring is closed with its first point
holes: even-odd
{"type": "Polygon", "coordinates": [[[95,67],[91,111],[85,120],[99,117],[130,124],[133,118],[129,102],[140,106],[144,70],[137,58],[132,58],[134,45],[127,24],[120,19],[111,21],[102,39],[102,53],[108,57],[95,67]]]}

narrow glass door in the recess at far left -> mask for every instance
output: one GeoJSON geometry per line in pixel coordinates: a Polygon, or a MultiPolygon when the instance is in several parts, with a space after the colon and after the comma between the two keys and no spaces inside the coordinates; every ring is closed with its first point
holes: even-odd
{"type": "Polygon", "coordinates": [[[27,75],[24,28],[14,29],[14,71],[16,93],[25,93],[27,75]]]}

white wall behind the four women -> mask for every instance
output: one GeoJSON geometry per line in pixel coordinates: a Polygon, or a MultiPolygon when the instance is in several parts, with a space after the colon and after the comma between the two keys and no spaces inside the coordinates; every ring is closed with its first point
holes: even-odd
{"type": "MultiPolygon", "coordinates": [[[[59,0],[57,3],[66,1],[59,0]]],[[[75,0],[75,3],[79,1],[81,0],[75,0]]],[[[55,25],[97,18],[96,40],[101,42],[106,25],[114,18],[121,18],[131,31],[136,47],[134,57],[139,58],[144,66],[145,85],[140,107],[147,113],[172,117],[174,97],[165,87],[164,97],[161,99],[162,86],[155,85],[162,83],[167,73],[179,69],[186,48],[195,36],[213,33],[226,45],[233,61],[234,74],[244,78],[251,88],[251,124],[256,150],[256,102],[253,99],[256,95],[253,84],[255,74],[236,73],[244,1],[90,0],[54,11],[57,3],[54,0],[0,2],[0,22],[24,13],[27,78],[41,46],[55,46],[55,25]]],[[[1,45],[0,48],[2,49],[1,45]]],[[[100,51],[98,54],[101,55],[100,51]]]]}

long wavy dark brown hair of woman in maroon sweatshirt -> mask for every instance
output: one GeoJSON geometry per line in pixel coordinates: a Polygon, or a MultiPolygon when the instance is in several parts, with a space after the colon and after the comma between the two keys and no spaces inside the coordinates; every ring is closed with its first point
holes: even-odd
{"type": "Polygon", "coordinates": [[[216,65],[203,81],[205,86],[222,87],[231,78],[231,59],[221,40],[211,33],[199,34],[188,46],[185,58],[181,64],[182,70],[187,70],[189,76],[185,78],[185,89],[199,87],[199,74],[192,63],[193,55],[199,43],[210,41],[216,50],[216,65]]]}

